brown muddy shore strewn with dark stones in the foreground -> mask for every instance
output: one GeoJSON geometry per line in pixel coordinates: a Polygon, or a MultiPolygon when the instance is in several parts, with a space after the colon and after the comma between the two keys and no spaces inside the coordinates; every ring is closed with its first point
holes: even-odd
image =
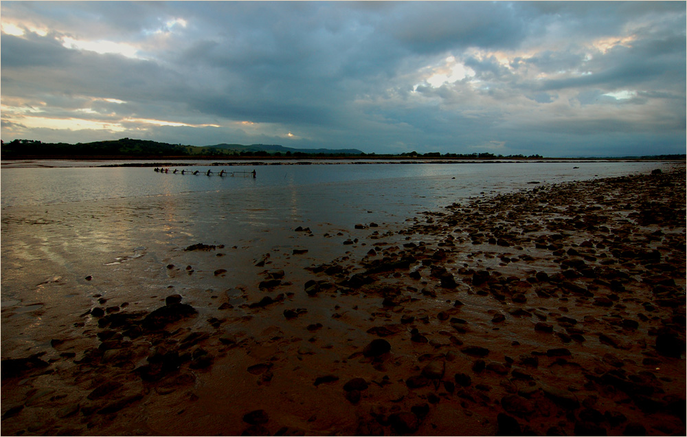
{"type": "MultiPolygon", "coordinates": [[[[246,287],[103,298],[3,356],[1,432],[684,435],[685,199],[684,166],[532,184],[326,235],[330,258],[305,224],[246,287]]],[[[187,249],[170,279],[232,274],[187,249]]]]}

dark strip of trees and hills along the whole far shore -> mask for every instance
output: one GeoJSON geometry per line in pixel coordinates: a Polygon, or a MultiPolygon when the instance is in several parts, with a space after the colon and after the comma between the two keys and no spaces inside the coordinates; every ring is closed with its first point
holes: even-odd
{"type": "MultiPolygon", "coordinates": [[[[184,146],[169,144],[146,139],[122,138],[111,141],[97,141],[92,143],[44,143],[33,139],[14,139],[2,142],[1,155],[3,159],[32,158],[32,159],[91,159],[91,158],[139,158],[156,159],[169,157],[189,158],[226,158],[238,159],[244,157],[261,158],[423,158],[423,159],[543,159],[541,155],[494,155],[493,153],[401,153],[400,155],[363,153],[354,148],[347,149],[303,149],[279,146],[276,144],[216,144],[214,146],[184,146]]],[[[578,159],[578,158],[574,158],[578,159]]],[[[598,158],[609,159],[609,158],[598,158]]],[[[681,160],[686,155],[651,155],[626,156],[611,159],[665,159],[681,160]]]]}

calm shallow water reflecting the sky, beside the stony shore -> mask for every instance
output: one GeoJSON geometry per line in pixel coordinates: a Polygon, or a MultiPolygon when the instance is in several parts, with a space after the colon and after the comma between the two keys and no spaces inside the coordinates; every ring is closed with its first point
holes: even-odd
{"type": "Polygon", "coordinates": [[[357,223],[379,223],[384,232],[418,212],[480,194],[532,188],[532,181],[628,175],[662,165],[258,166],[256,179],[207,177],[202,175],[207,169],[221,170],[208,166],[193,167],[201,172],[196,176],[153,168],[4,168],[3,357],[34,350],[69,329],[65,315],[87,311],[96,304],[94,295],[151,309],[168,287],[188,296],[249,287],[255,278],[246,272],[262,254],[306,247],[306,256],[289,262],[303,267],[328,262],[344,252],[343,240],[356,237],[357,223]],[[310,227],[313,236],[293,232],[298,226],[310,227]],[[194,243],[225,245],[225,256],[201,265],[199,254],[183,251],[194,243]],[[166,268],[170,263],[188,265],[195,273],[172,274],[166,268]],[[220,267],[227,273],[213,275],[220,267]]]}

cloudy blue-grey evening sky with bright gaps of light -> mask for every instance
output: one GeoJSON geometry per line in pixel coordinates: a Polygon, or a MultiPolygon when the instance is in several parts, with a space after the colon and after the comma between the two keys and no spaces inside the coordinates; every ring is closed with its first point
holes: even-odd
{"type": "Polygon", "coordinates": [[[0,134],[685,153],[686,4],[2,1],[0,134]]]}

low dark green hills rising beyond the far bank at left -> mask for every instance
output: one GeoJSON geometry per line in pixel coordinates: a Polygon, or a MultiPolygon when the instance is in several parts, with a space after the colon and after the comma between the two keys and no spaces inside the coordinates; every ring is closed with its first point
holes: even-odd
{"type": "Polygon", "coordinates": [[[270,155],[363,155],[361,150],[298,149],[278,145],[217,144],[215,146],[183,146],[148,139],[122,138],[91,143],[45,143],[33,139],[14,139],[2,143],[2,157],[238,157],[270,155]]]}

